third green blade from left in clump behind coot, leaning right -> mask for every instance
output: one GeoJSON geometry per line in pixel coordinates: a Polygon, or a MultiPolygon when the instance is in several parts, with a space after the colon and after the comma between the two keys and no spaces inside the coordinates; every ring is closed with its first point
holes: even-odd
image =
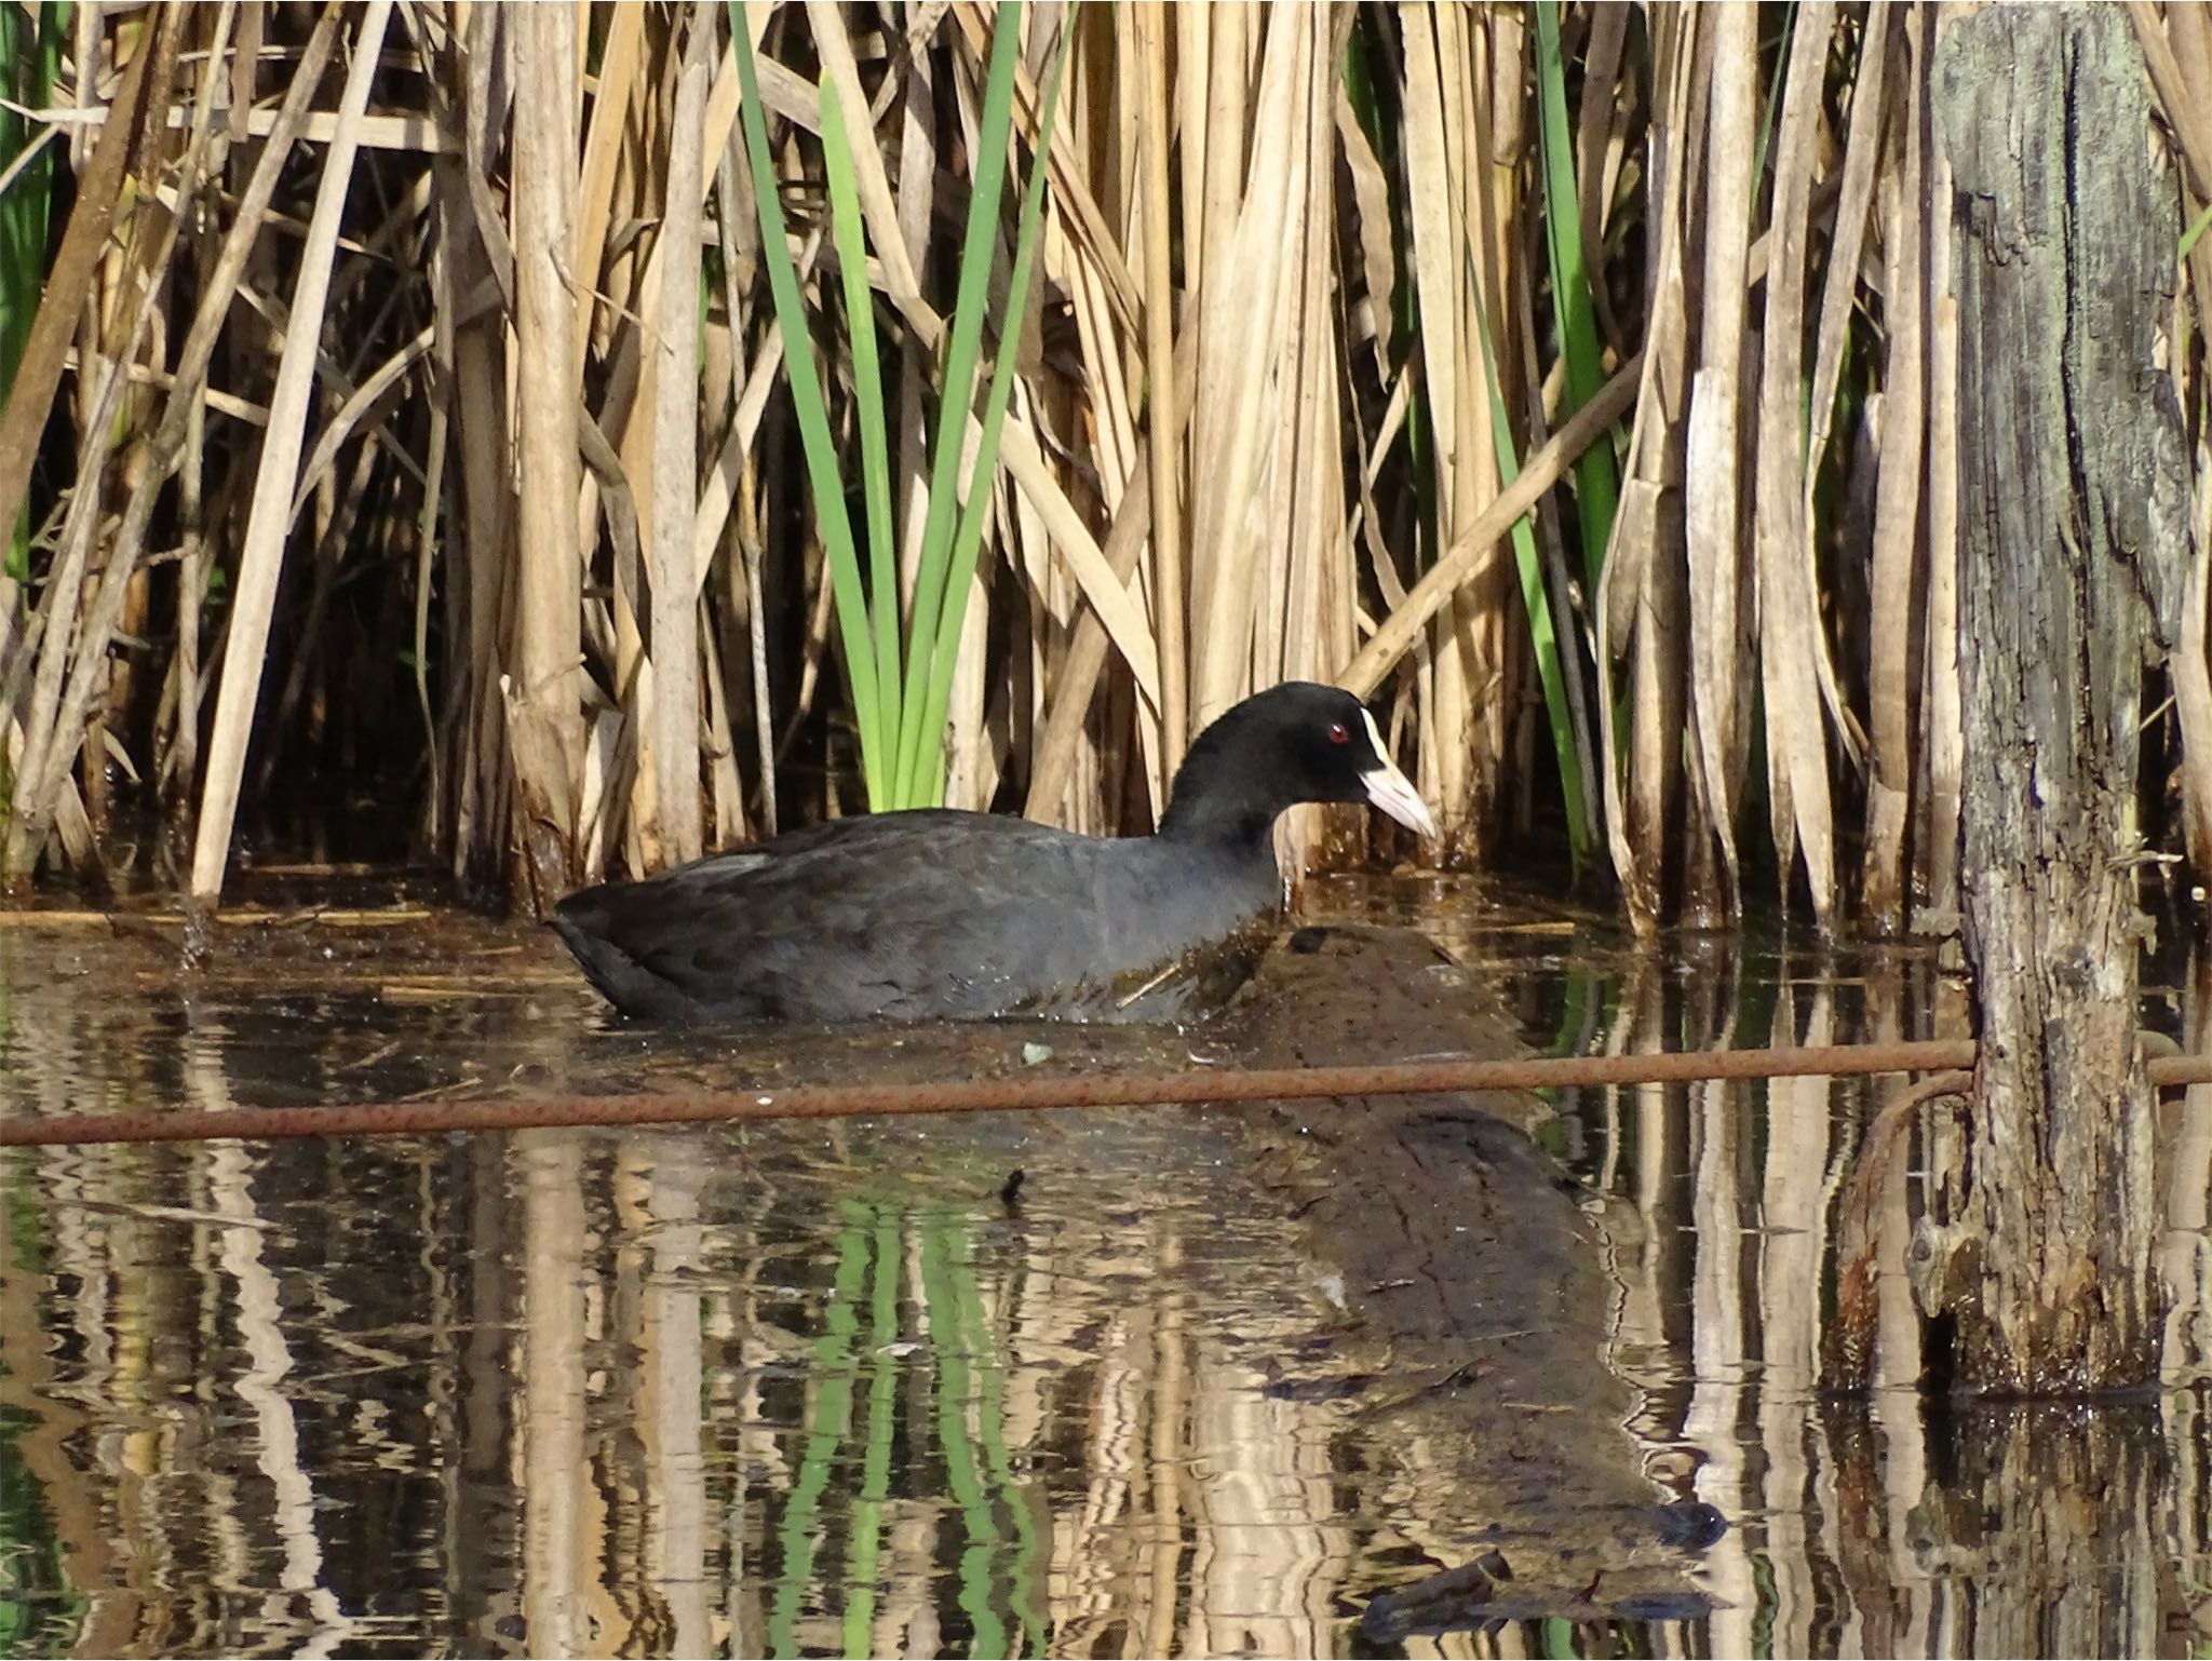
{"type": "MultiPolygon", "coordinates": [[[[969,177],[967,237],[960,246],[960,283],[953,305],[945,380],[938,387],[938,433],[929,469],[929,513],[922,520],[922,560],[914,582],[907,686],[900,708],[896,779],[902,801],[916,801],[920,781],[936,767],[922,763],[922,721],[931,657],[942,639],[947,579],[951,575],[953,491],[960,480],[960,449],[975,400],[975,363],[982,354],[982,314],[991,299],[991,243],[998,230],[998,199],[1006,181],[1006,150],[1013,144],[1013,71],[1022,55],[1022,9],[1004,0],[991,31],[991,73],[984,82],[982,119],[975,126],[975,164],[969,177]]],[[[1009,305],[1018,305],[1009,299],[1009,305]]],[[[1011,349],[1011,347],[1009,347],[1011,349]]],[[[978,478],[982,469],[978,467],[978,478]]],[[[953,633],[958,639],[958,630],[953,633]]],[[[933,734],[931,734],[933,739],[933,734]]]]}

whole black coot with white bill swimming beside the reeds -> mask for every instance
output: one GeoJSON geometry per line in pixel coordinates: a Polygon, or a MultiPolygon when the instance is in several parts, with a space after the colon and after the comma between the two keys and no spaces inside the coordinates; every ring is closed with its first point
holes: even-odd
{"type": "Polygon", "coordinates": [[[553,927],[608,1002],[659,1020],[1128,1013],[1281,905],[1272,827],[1303,801],[1367,801],[1436,834],[1360,701],[1292,681],[1199,734],[1155,836],[838,818],[571,894],[553,927]]]}

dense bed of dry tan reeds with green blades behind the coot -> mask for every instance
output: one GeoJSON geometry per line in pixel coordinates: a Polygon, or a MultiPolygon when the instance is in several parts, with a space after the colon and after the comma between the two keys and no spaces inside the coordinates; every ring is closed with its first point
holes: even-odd
{"type": "MultiPolygon", "coordinates": [[[[2212,15],[2128,11],[2203,484],[2212,15]]],[[[276,801],[535,905],[1141,832],[1310,677],[1425,858],[1944,929],[1947,20],[0,0],[0,876],[215,900],[276,801]]],[[[2197,869],[2205,529],[2139,809],[2197,869]]]]}

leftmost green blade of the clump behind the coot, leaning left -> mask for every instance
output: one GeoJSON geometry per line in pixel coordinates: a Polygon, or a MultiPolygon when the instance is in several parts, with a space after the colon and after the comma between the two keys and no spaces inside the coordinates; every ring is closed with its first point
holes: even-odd
{"type": "Polygon", "coordinates": [[[799,272],[792,268],[792,248],[783,234],[783,199],[776,195],[776,173],[768,157],[761,82],[752,64],[752,35],[745,29],[745,7],[741,0],[730,0],[730,33],[737,46],[737,82],[743,93],[739,115],[745,124],[752,199],[761,217],[761,259],[768,265],[768,292],[776,303],[783,367],[792,387],[792,409],[799,416],[799,438],[807,456],[807,482],[814,487],[814,511],[821,520],[823,551],[830,562],[838,639],[845,646],[845,672],[852,677],[852,714],[860,734],[860,776],[867,781],[869,807],[880,809],[891,805],[891,752],[889,732],[885,730],[883,683],[878,679],[876,650],[867,633],[860,555],[852,540],[852,518],[845,511],[845,482],[838,476],[836,445],[830,440],[823,383],[814,367],[814,341],[807,334],[807,312],[799,294],[799,272]]]}

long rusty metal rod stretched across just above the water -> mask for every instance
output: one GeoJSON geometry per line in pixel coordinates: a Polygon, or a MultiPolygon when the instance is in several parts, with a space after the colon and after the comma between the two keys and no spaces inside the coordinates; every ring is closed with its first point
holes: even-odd
{"type": "MultiPolygon", "coordinates": [[[[1212,1073],[1088,1073],[1082,1077],[956,1079],[947,1084],[805,1084],[787,1090],[677,1095],[568,1095],[491,1101],[343,1101],[319,1108],[212,1112],[66,1112],[0,1119],[0,1148],[100,1141],[272,1141],[283,1137],[409,1137],[447,1130],[710,1124],[717,1119],[854,1119],[907,1112],[1018,1112],[1037,1108],[1301,1101],[1453,1090],[1542,1090],[1588,1084],[1699,1084],[1710,1079],[1854,1077],[1971,1068],[1971,1040],[1818,1044],[1774,1051],[1564,1055],[1513,1062],[1385,1062],[1212,1073]]],[[[2212,1055],[2163,1055],[2152,1086],[2212,1084],[2212,1055]]]]}

